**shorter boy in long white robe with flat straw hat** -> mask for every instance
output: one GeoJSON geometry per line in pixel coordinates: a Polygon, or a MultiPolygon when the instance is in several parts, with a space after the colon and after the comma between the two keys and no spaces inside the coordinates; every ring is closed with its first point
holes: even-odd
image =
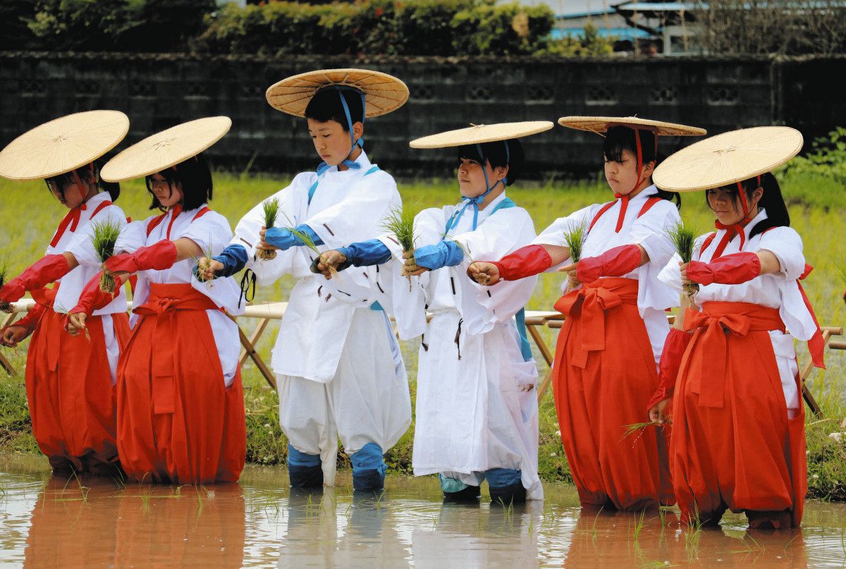
{"type": "Polygon", "coordinates": [[[471,257],[506,254],[535,238],[529,213],[505,188],[523,163],[517,138],[550,128],[492,124],[413,141],[459,146],[462,202],[415,217],[413,254],[389,234],[329,251],[318,265],[326,275],[329,266],[375,265],[344,273],[350,301],[379,301],[404,340],[422,334],[412,462],[417,476],[439,475],[445,500],[477,500],[483,480],[494,504],[543,496],[537,371],[522,320],[536,279],[487,290],[465,273],[471,257]]]}

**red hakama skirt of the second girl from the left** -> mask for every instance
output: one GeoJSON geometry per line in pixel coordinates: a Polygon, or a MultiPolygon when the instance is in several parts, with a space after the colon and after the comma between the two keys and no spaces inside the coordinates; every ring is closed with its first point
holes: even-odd
{"type": "Polygon", "coordinates": [[[246,456],[240,371],[228,387],[206,310],[190,285],[151,284],[118,367],[118,450],[139,480],[238,480],[246,456]]]}

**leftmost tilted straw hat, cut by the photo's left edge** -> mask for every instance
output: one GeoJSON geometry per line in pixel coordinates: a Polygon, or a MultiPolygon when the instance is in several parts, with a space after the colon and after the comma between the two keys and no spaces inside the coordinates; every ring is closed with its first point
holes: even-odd
{"type": "Polygon", "coordinates": [[[25,132],[0,151],[0,176],[36,180],[70,172],[118,146],[129,131],[120,111],[74,113],[25,132]]]}

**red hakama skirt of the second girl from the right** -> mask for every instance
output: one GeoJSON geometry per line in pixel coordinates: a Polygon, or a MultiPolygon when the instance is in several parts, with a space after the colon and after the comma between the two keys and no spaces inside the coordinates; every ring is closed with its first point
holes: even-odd
{"type": "Polygon", "coordinates": [[[634,279],[603,278],[562,296],[553,388],[558,424],[582,505],[640,510],[673,504],[663,428],[645,422],[658,383],[634,279]]]}

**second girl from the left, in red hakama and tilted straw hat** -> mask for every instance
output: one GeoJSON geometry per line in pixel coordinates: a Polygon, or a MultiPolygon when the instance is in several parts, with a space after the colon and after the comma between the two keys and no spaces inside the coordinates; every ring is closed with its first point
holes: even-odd
{"type": "MultiPolygon", "coordinates": [[[[217,254],[232,239],[227,220],[206,206],[211,172],[195,154],[230,124],[227,117],[214,117],[173,127],[103,168],[104,176],[127,180],[145,175],[139,168],[155,163],[146,184],[151,208],[164,210],[131,224],[139,247],[105,263],[118,279],[138,275],[132,337],[118,367],[118,450],[126,473],[140,480],[232,482],[244,467],[239,331],[224,312],[238,313],[239,288],[231,278],[212,284],[194,274],[196,258],[206,251],[217,254]],[[161,145],[164,140],[179,144],[161,145]],[[178,147],[183,158],[192,143],[190,157],[169,165],[175,161],[170,148],[178,147]],[[161,156],[138,165],[140,154],[160,147],[161,156]]],[[[83,297],[71,311],[74,324],[85,325],[85,314],[102,302],[100,296],[92,288],[83,297]]]]}

